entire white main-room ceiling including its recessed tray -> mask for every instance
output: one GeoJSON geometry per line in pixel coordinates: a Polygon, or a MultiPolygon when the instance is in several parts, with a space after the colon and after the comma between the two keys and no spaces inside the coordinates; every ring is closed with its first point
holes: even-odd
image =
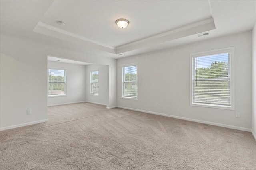
{"type": "Polygon", "coordinates": [[[120,58],[252,30],[256,1],[0,1],[0,33],[120,58]],[[115,20],[130,24],[120,29],[115,20]],[[63,21],[66,26],[58,25],[63,21]],[[199,33],[209,32],[203,37],[199,33]],[[119,55],[119,54],[122,54],[119,55]]]}

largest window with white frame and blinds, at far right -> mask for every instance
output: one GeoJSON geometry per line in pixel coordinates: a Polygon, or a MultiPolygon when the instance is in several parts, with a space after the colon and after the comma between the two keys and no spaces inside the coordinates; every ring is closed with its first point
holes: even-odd
{"type": "Polygon", "coordinates": [[[191,54],[190,105],[234,109],[234,48],[191,54]]]}

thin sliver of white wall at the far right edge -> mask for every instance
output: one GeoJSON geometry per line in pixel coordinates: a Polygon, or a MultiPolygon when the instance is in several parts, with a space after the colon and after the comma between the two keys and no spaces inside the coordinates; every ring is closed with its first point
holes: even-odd
{"type": "Polygon", "coordinates": [[[252,133],[256,139],[256,24],[252,30],[252,133]]]}

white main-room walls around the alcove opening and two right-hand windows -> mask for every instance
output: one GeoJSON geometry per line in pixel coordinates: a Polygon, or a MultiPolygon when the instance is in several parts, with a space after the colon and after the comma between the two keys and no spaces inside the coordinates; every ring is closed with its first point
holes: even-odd
{"type": "Polygon", "coordinates": [[[47,119],[47,55],[108,65],[109,107],[116,106],[117,97],[117,106],[251,128],[251,31],[118,59],[118,69],[115,59],[54,48],[25,37],[1,35],[0,44],[1,130],[9,126],[15,127],[47,119]],[[235,47],[235,110],[190,106],[189,54],[230,46],[235,47]],[[138,62],[138,100],[121,99],[120,65],[134,62],[138,62]],[[18,86],[14,85],[17,83],[16,80],[18,86]],[[157,88],[160,80],[164,83],[157,88]],[[169,88],[165,88],[166,83],[170,84],[169,88]],[[152,93],[148,93],[149,91],[152,93]],[[155,107],[156,103],[159,107],[155,107]],[[31,115],[26,115],[27,109],[32,109],[31,115]],[[241,118],[235,118],[236,111],[241,113],[241,118]]]}

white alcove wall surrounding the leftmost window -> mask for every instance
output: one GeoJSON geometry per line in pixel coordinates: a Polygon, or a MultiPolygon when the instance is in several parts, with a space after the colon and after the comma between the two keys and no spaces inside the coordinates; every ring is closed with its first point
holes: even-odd
{"type": "Polygon", "coordinates": [[[48,106],[86,100],[86,66],[48,61],[48,67],[66,69],[66,96],[48,97],[48,106]]]}

